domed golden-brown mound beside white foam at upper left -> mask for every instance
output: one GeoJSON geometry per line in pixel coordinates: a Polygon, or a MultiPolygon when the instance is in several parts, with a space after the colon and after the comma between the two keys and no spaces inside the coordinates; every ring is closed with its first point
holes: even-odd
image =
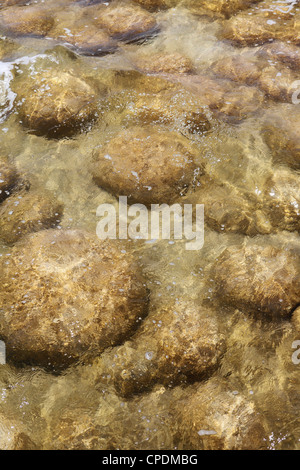
{"type": "Polygon", "coordinates": [[[75,72],[47,71],[18,96],[22,122],[33,133],[48,137],[71,136],[96,118],[97,96],[93,86],[75,72]]]}

